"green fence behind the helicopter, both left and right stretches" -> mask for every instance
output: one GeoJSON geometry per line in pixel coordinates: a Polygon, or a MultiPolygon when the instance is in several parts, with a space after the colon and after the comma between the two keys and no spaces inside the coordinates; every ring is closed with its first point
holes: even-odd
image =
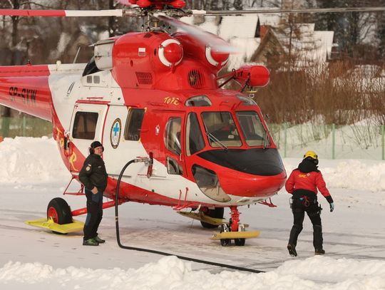
{"type": "MultiPolygon", "coordinates": [[[[270,124],[282,157],[301,157],[314,150],[327,159],[385,160],[384,125],[270,124]]],[[[39,118],[0,118],[0,136],[52,136],[52,124],[39,118]]]]}

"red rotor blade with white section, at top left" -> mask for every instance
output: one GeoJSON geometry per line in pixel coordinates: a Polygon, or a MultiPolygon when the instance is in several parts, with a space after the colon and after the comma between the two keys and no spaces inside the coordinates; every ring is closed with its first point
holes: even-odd
{"type": "Polygon", "coordinates": [[[45,16],[45,17],[95,17],[123,16],[123,9],[111,10],[32,10],[32,9],[0,9],[2,16],[45,16]]]}

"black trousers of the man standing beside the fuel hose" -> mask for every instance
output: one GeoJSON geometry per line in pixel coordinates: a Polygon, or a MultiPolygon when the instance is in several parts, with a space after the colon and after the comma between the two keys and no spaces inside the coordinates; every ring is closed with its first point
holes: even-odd
{"type": "Polygon", "coordinates": [[[85,241],[98,235],[98,227],[103,217],[103,192],[94,195],[91,190],[86,190],[86,197],[87,217],[83,229],[85,241]]]}

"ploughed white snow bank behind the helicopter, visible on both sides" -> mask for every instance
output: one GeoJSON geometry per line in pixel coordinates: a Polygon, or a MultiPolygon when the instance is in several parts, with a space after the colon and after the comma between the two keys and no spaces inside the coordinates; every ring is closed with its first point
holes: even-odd
{"type": "MultiPolygon", "coordinates": [[[[301,160],[285,158],[289,174],[301,160]]],[[[51,138],[6,138],[0,143],[0,182],[35,183],[67,180],[56,142],[51,138]]],[[[385,191],[385,162],[374,160],[320,160],[330,188],[385,191]]]]}

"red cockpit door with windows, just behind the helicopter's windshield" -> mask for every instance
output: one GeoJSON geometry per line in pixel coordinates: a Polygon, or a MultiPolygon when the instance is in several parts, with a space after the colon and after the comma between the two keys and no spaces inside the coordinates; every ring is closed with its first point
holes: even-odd
{"type": "Polygon", "coordinates": [[[185,173],[184,113],[168,115],[165,125],[164,150],[165,163],[169,177],[185,173]]]}

